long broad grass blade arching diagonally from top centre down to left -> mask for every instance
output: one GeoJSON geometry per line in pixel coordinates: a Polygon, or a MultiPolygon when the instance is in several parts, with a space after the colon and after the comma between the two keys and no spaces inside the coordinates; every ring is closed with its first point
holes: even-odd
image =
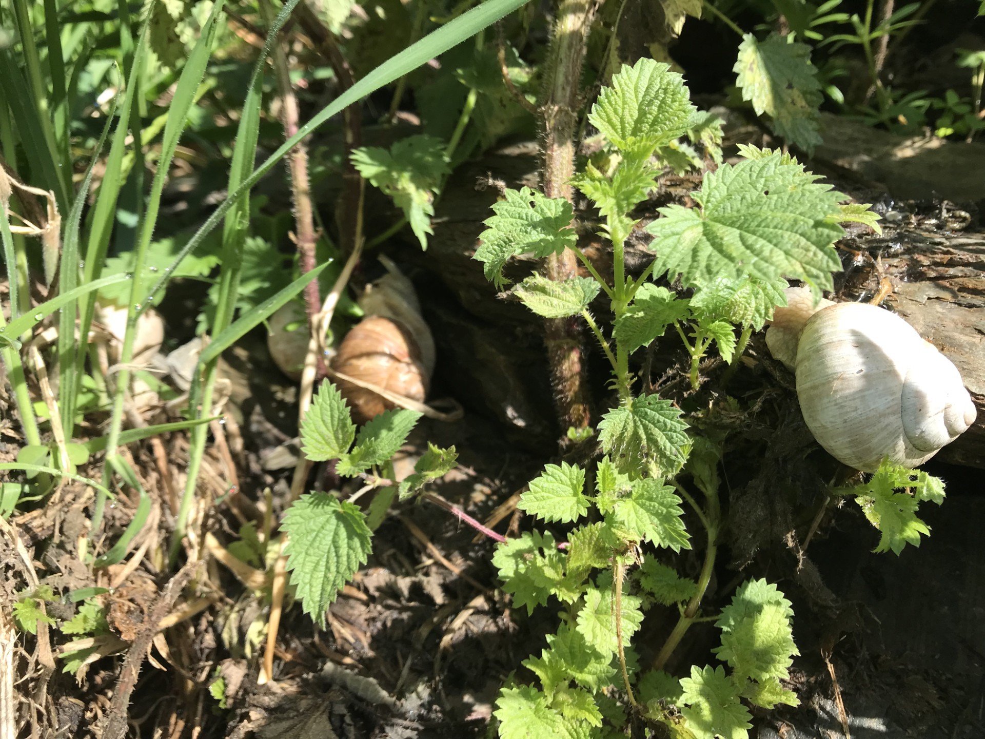
{"type": "MultiPolygon", "coordinates": [[[[363,77],[358,83],[340,95],[335,101],[322,108],[311,120],[301,126],[297,133],[284,142],[281,147],[274,152],[263,164],[253,170],[253,173],[239,186],[235,192],[230,193],[226,201],[217,208],[209,219],[202,224],[199,230],[184,245],[177,254],[172,268],[176,267],[202,240],[208,235],[219,222],[226,216],[227,212],[234,205],[236,200],[243,197],[245,193],[260,180],[263,175],[274,168],[284,156],[291,151],[295,145],[309,136],[312,131],[322,125],[325,121],[342,112],[354,102],[361,101],[366,96],[379,90],[384,85],[400,79],[405,74],[412,72],[427,63],[430,59],[438,56],[453,46],[457,46],[462,41],[478,34],[485,28],[492,26],[493,23],[512,13],[517,8],[526,5],[529,0],[487,0],[482,5],[463,13],[458,18],[450,21],[441,28],[432,31],[416,43],[411,44],[400,53],[392,56],[387,61],[380,64],[376,69],[363,77]]],[[[274,33],[272,28],[269,32],[274,33]]],[[[151,289],[151,298],[154,298],[166,284],[166,276],[158,281],[151,289]]],[[[151,301],[145,302],[141,306],[141,311],[147,309],[151,301]]]]}

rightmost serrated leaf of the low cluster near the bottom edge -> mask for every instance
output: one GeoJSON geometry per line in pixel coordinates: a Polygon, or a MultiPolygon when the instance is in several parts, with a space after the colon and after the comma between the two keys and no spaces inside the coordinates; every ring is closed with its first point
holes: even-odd
{"type": "Polygon", "coordinates": [[[722,645],[712,651],[728,662],[734,675],[760,682],[789,678],[793,655],[800,654],[790,619],[776,603],[766,603],[723,631],[722,645]]]}

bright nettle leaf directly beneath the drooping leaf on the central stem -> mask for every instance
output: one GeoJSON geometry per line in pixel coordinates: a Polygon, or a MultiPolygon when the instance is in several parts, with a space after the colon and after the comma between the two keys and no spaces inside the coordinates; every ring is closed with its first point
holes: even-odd
{"type": "Polygon", "coordinates": [[[674,488],[645,478],[633,481],[632,494],[616,501],[606,519],[622,539],[647,541],[680,552],[690,549],[683,515],[681,499],[674,488]]]}

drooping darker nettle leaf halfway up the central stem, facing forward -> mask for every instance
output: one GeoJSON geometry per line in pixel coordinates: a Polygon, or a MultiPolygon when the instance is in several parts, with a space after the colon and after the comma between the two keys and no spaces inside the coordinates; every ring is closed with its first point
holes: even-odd
{"type": "Polygon", "coordinates": [[[673,470],[684,463],[687,429],[671,401],[639,395],[602,418],[599,440],[620,472],[639,474],[648,463],[673,470]]]}

